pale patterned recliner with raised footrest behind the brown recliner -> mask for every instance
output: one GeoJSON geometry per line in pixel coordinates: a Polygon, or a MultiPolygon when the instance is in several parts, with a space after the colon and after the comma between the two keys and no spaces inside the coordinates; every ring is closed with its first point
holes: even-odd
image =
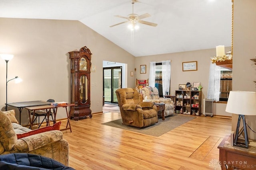
{"type": "Polygon", "coordinates": [[[143,99],[149,102],[164,103],[164,117],[174,114],[174,102],[171,98],[160,98],[156,87],[146,86],[141,89],[143,99]]]}

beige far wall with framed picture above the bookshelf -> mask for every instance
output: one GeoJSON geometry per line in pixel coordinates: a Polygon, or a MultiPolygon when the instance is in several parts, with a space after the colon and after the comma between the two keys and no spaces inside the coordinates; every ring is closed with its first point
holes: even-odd
{"type": "MultiPolygon", "coordinates": [[[[225,47],[225,52],[228,52],[230,47],[225,47]]],[[[135,58],[135,66],[138,79],[148,79],[150,70],[150,61],[161,62],[162,60],[171,61],[171,84],[170,94],[175,94],[178,90],[179,84],[186,84],[190,82],[201,82],[202,99],[207,96],[208,80],[209,80],[209,67],[211,64],[211,57],[216,56],[216,48],[186,51],[181,53],[169,53],[160,55],[151,55],[135,58]],[[182,71],[182,62],[197,61],[197,71],[182,71]],[[146,64],[146,74],[140,74],[140,65],[146,64]]],[[[203,102],[202,102],[203,103],[203,102]]],[[[203,106],[202,106],[203,108],[203,106]]],[[[230,113],[225,111],[226,104],[215,103],[214,115],[231,116],[230,113]]]]}

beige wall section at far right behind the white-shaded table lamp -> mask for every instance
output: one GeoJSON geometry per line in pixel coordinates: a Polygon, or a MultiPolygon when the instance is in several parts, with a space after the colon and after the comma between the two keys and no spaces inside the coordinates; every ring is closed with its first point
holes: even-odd
{"type": "MultiPolygon", "coordinates": [[[[256,71],[250,66],[256,55],[256,1],[234,0],[233,90],[255,92],[256,71]]],[[[232,131],[236,130],[238,115],[232,115],[232,131]]],[[[246,116],[246,123],[256,131],[256,116],[246,116]]],[[[256,134],[247,129],[249,139],[256,134]]]]}

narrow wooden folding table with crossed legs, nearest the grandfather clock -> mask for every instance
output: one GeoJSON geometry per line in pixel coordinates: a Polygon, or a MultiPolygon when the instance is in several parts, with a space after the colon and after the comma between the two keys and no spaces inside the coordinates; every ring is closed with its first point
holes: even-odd
{"type": "MultiPolygon", "coordinates": [[[[68,122],[67,122],[67,125],[66,125],[66,128],[65,129],[60,129],[60,131],[64,131],[64,130],[68,130],[70,129],[70,132],[72,132],[71,130],[71,126],[70,126],[70,122],[69,122],[69,116],[70,116],[70,111],[68,112],[68,109],[67,107],[70,106],[75,106],[74,104],[68,104],[68,105],[65,105],[65,106],[52,106],[52,105],[45,105],[45,106],[33,106],[33,107],[25,107],[26,109],[28,109],[28,113],[30,113],[30,111],[33,111],[35,113],[36,110],[43,110],[43,109],[46,109],[46,113],[47,113],[47,119],[49,120],[49,112],[50,109],[53,109],[53,114],[54,114],[54,120],[53,120],[53,123],[56,123],[56,115],[57,115],[57,110],[58,110],[58,107],[65,107],[66,109],[66,114],[67,114],[67,118],[68,118],[68,122]],[[68,127],[69,126],[69,127],[68,127]]],[[[70,109],[71,110],[71,109],[70,109]]],[[[34,120],[34,114],[32,116],[32,120],[31,120],[31,117],[29,116],[29,121],[30,121],[30,129],[32,129],[33,127],[33,120],[34,120]]],[[[46,125],[50,125],[49,122],[46,121],[46,125]]]]}

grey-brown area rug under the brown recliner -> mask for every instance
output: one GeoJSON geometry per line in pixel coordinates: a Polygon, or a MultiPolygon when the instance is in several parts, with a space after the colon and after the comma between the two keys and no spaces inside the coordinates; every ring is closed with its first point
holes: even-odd
{"type": "Polygon", "coordinates": [[[102,123],[102,125],[108,125],[108,126],[117,127],[120,129],[125,129],[128,131],[134,131],[134,132],[143,133],[146,135],[159,137],[164,133],[167,133],[168,131],[171,131],[172,129],[194,119],[195,117],[196,116],[189,116],[189,115],[174,113],[174,115],[166,117],[165,120],[162,120],[162,118],[158,118],[158,123],[155,123],[152,126],[142,127],[142,128],[123,125],[122,119],[102,123]]]}

